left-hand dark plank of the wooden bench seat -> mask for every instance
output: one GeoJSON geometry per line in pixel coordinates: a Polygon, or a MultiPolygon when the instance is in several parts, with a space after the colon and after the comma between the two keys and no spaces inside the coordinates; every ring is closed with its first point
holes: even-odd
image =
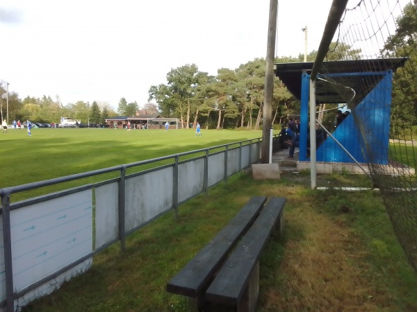
{"type": "Polygon", "coordinates": [[[177,295],[199,297],[207,288],[224,259],[254,223],[266,202],[265,196],[253,197],[238,214],[183,269],[167,283],[167,291],[177,295]]]}

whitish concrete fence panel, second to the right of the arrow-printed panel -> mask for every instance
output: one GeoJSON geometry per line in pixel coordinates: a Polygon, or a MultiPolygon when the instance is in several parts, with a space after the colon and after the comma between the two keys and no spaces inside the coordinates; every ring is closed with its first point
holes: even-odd
{"type": "Polygon", "coordinates": [[[137,177],[126,177],[126,231],[173,206],[173,176],[173,168],[167,167],[137,177]]]}

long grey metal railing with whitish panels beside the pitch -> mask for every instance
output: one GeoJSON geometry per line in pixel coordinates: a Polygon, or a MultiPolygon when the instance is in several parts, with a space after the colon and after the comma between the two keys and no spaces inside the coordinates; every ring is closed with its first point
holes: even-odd
{"type": "Polygon", "coordinates": [[[51,293],[88,270],[101,250],[120,242],[123,251],[126,236],[169,211],[177,218],[181,203],[260,159],[261,138],[0,189],[0,309],[19,310],[51,293]],[[138,170],[145,165],[152,168],[138,170]],[[137,171],[126,174],[129,168],[137,171]],[[118,177],[10,202],[13,193],[115,172],[118,177]]]}

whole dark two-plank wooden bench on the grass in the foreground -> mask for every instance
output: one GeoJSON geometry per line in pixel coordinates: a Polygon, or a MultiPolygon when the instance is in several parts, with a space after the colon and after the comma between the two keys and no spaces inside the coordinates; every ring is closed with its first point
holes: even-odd
{"type": "MultiPolygon", "coordinates": [[[[252,198],[215,238],[167,284],[167,291],[189,297],[190,310],[211,303],[254,311],[259,294],[259,257],[268,238],[284,228],[285,198],[252,198]],[[234,249],[232,252],[231,250],[234,249]],[[228,258],[227,258],[228,257],[228,258]]],[[[207,309],[206,309],[207,308],[207,309]]]]}

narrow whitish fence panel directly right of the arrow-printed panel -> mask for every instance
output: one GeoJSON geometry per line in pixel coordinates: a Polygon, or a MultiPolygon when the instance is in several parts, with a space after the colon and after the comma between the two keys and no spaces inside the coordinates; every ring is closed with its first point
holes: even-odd
{"type": "Polygon", "coordinates": [[[95,248],[117,238],[119,227],[119,183],[95,189],[95,248]]]}

